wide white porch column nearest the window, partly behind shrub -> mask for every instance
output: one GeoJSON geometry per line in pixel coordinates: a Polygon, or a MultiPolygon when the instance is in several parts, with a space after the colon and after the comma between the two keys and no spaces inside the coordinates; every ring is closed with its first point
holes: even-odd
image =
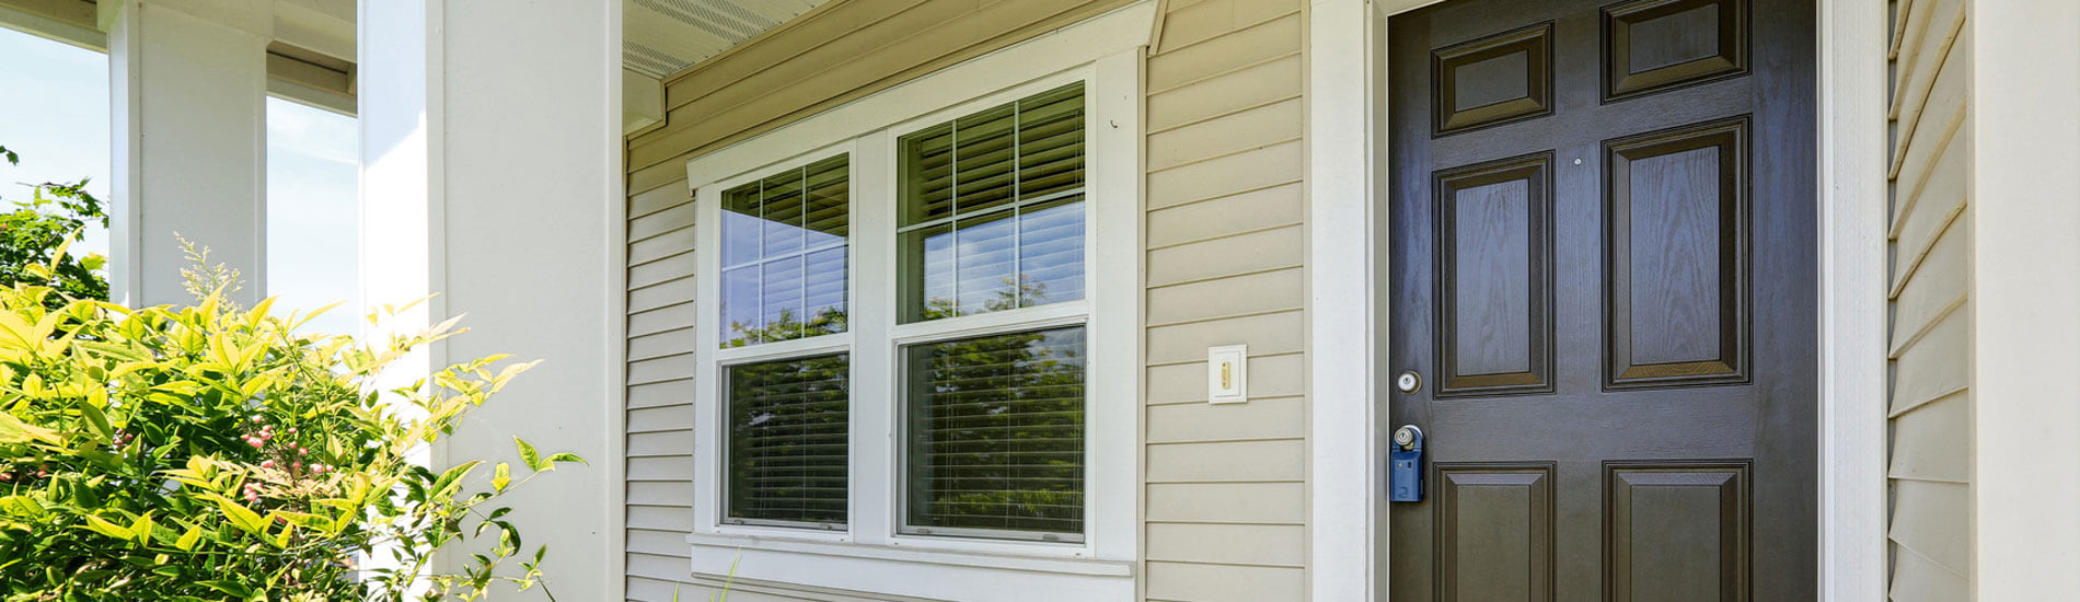
{"type": "Polygon", "coordinates": [[[543,360],[431,462],[518,465],[514,435],[591,460],[503,504],[557,598],[618,600],[620,2],[360,2],[358,65],[368,302],[468,315],[424,367],[543,360]]]}

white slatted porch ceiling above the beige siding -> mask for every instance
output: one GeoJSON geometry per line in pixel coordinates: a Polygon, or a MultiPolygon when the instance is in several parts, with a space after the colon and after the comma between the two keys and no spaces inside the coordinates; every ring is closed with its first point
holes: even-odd
{"type": "Polygon", "coordinates": [[[622,65],[664,79],[830,0],[624,0],[622,65]]]}

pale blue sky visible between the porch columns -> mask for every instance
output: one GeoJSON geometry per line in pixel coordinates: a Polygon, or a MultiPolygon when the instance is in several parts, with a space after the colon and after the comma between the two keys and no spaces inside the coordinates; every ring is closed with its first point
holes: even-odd
{"type": "MultiPolygon", "coordinates": [[[[356,333],[356,119],[281,98],[268,98],[266,112],[266,294],[297,310],[343,302],[310,329],[356,333]]],[[[108,56],[0,29],[0,144],[21,152],[19,167],[0,162],[0,198],[27,198],[19,183],[92,177],[87,192],[106,200],[108,56]]],[[[73,250],[106,254],[108,233],[89,231],[73,250]]]]}

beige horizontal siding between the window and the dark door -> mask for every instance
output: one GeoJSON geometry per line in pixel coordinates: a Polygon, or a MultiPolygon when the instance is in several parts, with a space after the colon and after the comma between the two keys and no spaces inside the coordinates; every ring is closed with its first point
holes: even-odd
{"type": "Polygon", "coordinates": [[[1306,596],[1302,8],[1173,0],[1144,67],[1148,600],[1306,596]],[[1246,404],[1206,404],[1223,344],[1246,404]]]}

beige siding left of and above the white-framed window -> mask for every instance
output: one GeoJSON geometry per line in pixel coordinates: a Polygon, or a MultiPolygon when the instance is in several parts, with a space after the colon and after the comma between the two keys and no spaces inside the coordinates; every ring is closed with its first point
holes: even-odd
{"type": "MultiPolygon", "coordinates": [[[[842,0],[666,79],[666,123],[628,137],[628,600],[695,583],[695,237],[686,158],[1132,0],[842,0]]],[[[738,583],[738,600],[901,600],[738,583]]]]}

